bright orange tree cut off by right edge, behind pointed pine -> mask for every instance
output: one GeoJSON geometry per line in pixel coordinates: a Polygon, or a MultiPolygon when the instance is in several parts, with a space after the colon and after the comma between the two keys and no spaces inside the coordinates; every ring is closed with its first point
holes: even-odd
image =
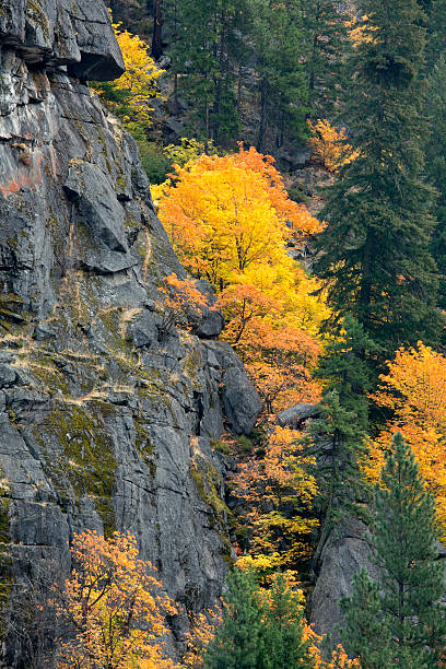
{"type": "Polygon", "coordinates": [[[374,399],[394,418],[371,444],[364,471],[373,481],[379,479],[391,437],[402,432],[435,496],[446,535],[446,357],[421,342],[399,349],[374,399]]]}

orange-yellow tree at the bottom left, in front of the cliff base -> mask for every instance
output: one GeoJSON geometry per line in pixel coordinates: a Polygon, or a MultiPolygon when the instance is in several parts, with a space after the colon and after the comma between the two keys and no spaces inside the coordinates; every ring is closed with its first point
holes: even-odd
{"type": "Polygon", "coordinates": [[[74,535],[74,568],[55,598],[68,627],[60,669],[174,669],[163,657],[165,615],[176,612],[154,567],[139,559],[134,537],[74,535]]]}

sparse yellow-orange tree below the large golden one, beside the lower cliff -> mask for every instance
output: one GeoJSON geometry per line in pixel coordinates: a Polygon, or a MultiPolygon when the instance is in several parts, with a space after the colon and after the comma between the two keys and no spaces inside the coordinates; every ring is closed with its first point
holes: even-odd
{"type": "Polygon", "coordinates": [[[309,467],[312,458],[302,454],[298,433],[275,427],[265,455],[249,457],[232,478],[233,494],[245,503],[242,551],[249,551],[240,565],[249,565],[265,576],[291,570],[307,556],[306,537],[318,521],[308,513],[316,494],[309,467]]]}

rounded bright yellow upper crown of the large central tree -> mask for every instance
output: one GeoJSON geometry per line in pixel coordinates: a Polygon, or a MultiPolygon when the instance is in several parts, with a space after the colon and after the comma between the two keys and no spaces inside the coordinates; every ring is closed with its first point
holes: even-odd
{"type": "Polygon", "coordinates": [[[160,200],[160,219],[184,265],[216,289],[248,268],[283,262],[291,236],[320,230],[255,149],[176,165],[174,179],[160,200]]]}

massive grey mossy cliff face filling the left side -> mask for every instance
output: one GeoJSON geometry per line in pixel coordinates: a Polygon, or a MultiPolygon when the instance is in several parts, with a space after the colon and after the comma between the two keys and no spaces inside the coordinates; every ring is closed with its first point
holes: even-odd
{"type": "Polygon", "coordinates": [[[161,337],[157,285],[184,270],[133,140],[82,83],[122,71],[103,2],[5,0],[0,48],[3,568],[67,571],[73,532],[130,530],[173,597],[208,606],[231,556],[210,442],[249,432],[259,398],[226,345],[161,337]]]}

